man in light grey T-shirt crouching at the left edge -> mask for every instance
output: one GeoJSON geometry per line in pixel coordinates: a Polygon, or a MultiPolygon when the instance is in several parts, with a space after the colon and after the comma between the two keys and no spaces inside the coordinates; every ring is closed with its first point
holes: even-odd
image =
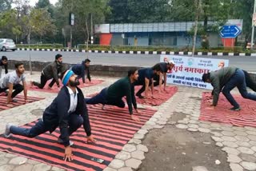
{"type": "Polygon", "coordinates": [[[14,99],[18,95],[18,93],[21,93],[24,90],[24,99],[25,102],[27,101],[27,86],[26,86],[26,77],[25,77],[25,69],[22,62],[18,62],[15,64],[14,71],[4,75],[0,79],[0,93],[5,92],[7,89],[9,89],[7,93],[7,106],[13,107],[10,102],[17,102],[17,100],[14,99]],[[22,85],[20,84],[22,82],[22,85]],[[14,89],[14,92],[13,92],[14,89]]]}

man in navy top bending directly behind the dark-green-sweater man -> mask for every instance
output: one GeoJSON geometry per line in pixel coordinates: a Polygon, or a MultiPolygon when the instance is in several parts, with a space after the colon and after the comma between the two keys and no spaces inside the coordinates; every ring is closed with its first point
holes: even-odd
{"type": "Polygon", "coordinates": [[[151,88],[152,97],[154,95],[154,74],[159,75],[160,71],[154,68],[142,68],[138,70],[138,80],[134,82],[134,85],[142,85],[142,88],[138,90],[136,96],[144,98],[142,93],[145,91],[145,96],[148,97],[149,87],[151,88]]]}

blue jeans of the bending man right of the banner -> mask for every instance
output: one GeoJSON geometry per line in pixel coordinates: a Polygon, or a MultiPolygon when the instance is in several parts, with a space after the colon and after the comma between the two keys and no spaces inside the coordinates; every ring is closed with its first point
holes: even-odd
{"type": "Polygon", "coordinates": [[[222,93],[224,94],[226,99],[230,101],[230,104],[233,105],[234,108],[239,108],[238,102],[234,100],[234,97],[230,93],[230,91],[234,89],[234,87],[238,87],[238,90],[241,93],[242,97],[256,101],[256,95],[247,92],[246,77],[244,72],[240,69],[235,71],[234,75],[230,78],[230,81],[227,82],[222,89],[222,93]]]}

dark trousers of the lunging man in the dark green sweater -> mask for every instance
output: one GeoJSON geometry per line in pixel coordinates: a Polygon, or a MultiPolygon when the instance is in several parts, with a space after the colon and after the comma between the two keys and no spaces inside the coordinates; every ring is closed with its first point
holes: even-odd
{"type": "Polygon", "coordinates": [[[126,106],[125,102],[122,101],[122,98],[111,98],[107,97],[107,88],[102,89],[100,93],[98,93],[96,96],[91,98],[85,98],[86,104],[89,105],[96,105],[96,104],[102,104],[102,105],[115,105],[120,108],[124,108],[126,106]]]}

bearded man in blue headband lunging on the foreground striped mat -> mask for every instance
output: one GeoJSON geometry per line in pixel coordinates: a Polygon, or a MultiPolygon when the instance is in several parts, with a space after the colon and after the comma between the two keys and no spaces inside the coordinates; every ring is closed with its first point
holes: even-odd
{"type": "Polygon", "coordinates": [[[42,119],[39,119],[30,129],[7,124],[4,136],[11,137],[12,133],[24,137],[36,137],[47,131],[52,133],[59,127],[58,143],[65,146],[64,160],[71,161],[73,160],[73,154],[70,146],[74,145],[74,143],[70,141],[70,136],[81,125],[86,131],[87,142],[95,142],[95,140],[91,134],[84,96],[82,90],[78,88],[79,81],[77,76],[74,75],[72,70],[67,70],[61,77],[64,86],[54,101],[45,109],[42,119]]]}

